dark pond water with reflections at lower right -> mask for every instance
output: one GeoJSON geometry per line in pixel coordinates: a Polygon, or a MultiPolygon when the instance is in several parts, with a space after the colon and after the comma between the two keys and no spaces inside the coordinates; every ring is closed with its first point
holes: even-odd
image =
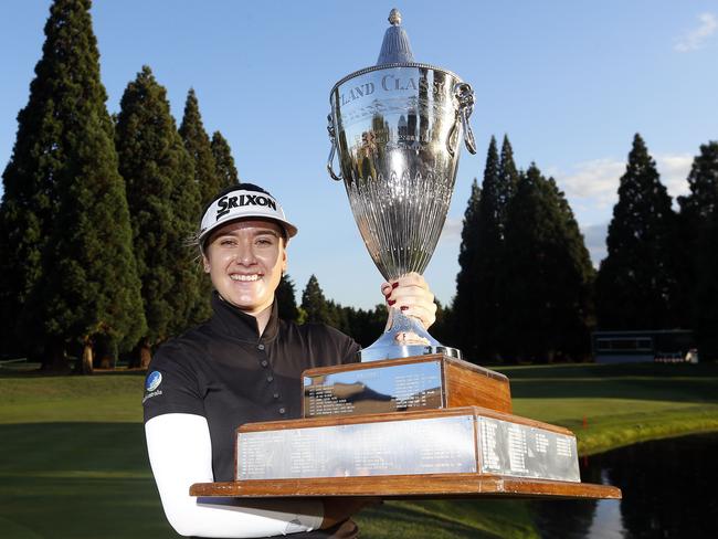
{"type": "Polygon", "coordinates": [[[659,440],[581,463],[585,483],[620,487],[623,500],[540,501],[546,538],[718,538],[718,434],[659,440]]]}

